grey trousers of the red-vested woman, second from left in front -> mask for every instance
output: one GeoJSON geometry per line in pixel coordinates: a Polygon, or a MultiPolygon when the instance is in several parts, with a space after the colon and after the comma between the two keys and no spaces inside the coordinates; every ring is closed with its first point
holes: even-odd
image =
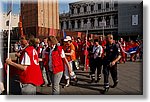
{"type": "Polygon", "coordinates": [[[59,72],[57,74],[52,74],[52,95],[60,94],[59,83],[62,78],[63,72],[59,72]]]}

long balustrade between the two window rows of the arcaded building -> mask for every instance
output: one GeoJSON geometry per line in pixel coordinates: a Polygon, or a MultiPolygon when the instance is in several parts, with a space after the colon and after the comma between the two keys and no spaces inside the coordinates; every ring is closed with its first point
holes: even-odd
{"type": "Polygon", "coordinates": [[[93,14],[98,14],[98,13],[108,13],[108,12],[114,12],[114,11],[118,11],[118,8],[106,8],[106,9],[82,12],[78,14],[70,14],[70,17],[87,16],[87,15],[93,15],[93,14]]]}

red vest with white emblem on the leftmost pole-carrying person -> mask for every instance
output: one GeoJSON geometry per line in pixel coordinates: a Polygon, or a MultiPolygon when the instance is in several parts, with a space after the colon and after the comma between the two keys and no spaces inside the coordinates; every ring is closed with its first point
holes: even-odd
{"type": "Polygon", "coordinates": [[[22,53],[20,61],[23,59],[25,52],[30,57],[30,64],[25,71],[20,71],[20,81],[23,84],[34,84],[40,86],[44,83],[42,72],[38,63],[37,51],[32,46],[28,46],[22,53]]]}

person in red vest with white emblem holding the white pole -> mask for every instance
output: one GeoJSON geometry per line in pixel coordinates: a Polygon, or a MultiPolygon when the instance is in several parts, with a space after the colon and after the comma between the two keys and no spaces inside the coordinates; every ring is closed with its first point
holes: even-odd
{"type": "Polygon", "coordinates": [[[6,63],[19,70],[22,94],[33,95],[36,94],[36,86],[43,84],[38,53],[33,46],[29,45],[25,37],[21,38],[21,45],[24,49],[20,55],[20,63],[15,63],[8,58],[6,63]]]}

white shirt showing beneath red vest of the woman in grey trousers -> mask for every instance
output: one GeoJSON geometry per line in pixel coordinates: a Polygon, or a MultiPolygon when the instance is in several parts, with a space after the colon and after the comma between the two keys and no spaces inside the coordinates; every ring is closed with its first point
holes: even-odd
{"type": "MultiPolygon", "coordinates": [[[[49,53],[49,68],[50,68],[50,71],[53,71],[52,70],[52,52],[54,51],[54,49],[55,49],[55,46],[52,48],[52,49],[50,49],[50,53],[49,53]]],[[[61,51],[61,58],[65,58],[66,56],[65,56],[65,52],[64,52],[64,50],[62,49],[62,51],[61,51]]]]}

